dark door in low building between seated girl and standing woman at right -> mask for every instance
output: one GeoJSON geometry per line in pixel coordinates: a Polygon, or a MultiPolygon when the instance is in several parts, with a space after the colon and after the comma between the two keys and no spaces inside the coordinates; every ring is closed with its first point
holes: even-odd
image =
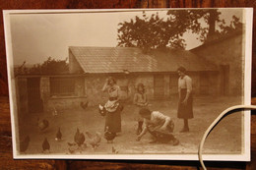
{"type": "Polygon", "coordinates": [[[164,98],[164,77],[163,75],[154,76],[154,97],[156,99],[164,98]]]}

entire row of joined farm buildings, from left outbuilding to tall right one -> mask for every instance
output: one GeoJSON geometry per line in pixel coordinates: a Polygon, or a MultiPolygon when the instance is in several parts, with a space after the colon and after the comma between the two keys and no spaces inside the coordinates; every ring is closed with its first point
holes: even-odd
{"type": "Polygon", "coordinates": [[[169,99],[177,95],[179,66],[184,66],[193,79],[195,95],[238,94],[242,76],[242,64],[238,64],[242,60],[240,37],[238,34],[191,51],[158,49],[145,53],[134,47],[71,46],[69,74],[16,78],[19,110],[40,112],[79,107],[82,101],[90,105],[105,102],[107,94],[101,88],[109,76],[116,79],[124,102],[132,101],[139,83],[146,86],[151,100],[169,99]],[[224,47],[227,44],[229,49],[224,47]],[[238,74],[233,74],[236,71],[238,74]],[[238,80],[232,82],[233,77],[238,80]]]}

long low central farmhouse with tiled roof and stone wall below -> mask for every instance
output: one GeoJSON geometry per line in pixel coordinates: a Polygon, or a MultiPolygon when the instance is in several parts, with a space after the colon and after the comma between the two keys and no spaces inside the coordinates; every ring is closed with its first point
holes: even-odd
{"type": "Polygon", "coordinates": [[[146,85],[151,99],[169,98],[177,93],[176,70],[184,66],[194,80],[195,93],[214,94],[217,68],[190,51],[165,49],[147,54],[132,47],[70,47],[71,74],[86,74],[86,93],[98,100],[107,76],[113,76],[122,89],[122,98],[131,99],[136,85],[146,85]],[[211,75],[211,76],[209,76],[211,75]],[[92,85],[93,84],[93,85],[92,85]]]}

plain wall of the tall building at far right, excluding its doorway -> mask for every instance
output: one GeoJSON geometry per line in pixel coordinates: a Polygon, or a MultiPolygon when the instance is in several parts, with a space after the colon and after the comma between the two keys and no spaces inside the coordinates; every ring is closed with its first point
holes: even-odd
{"type": "MultiPolygon", "coordinates": [[[[210,42],[191,51],[198,56],[205,57],[208,61],[217,64],[222,72],[222,66],[229,66],[229,78],[226,79],[228,85],[227,94],[240,95],[243,91],[243,34],[235,34],[223,40],[210,42]]],[[[222,93],[220,86],[222,75],[216,79],[219,82],[218,93],[222,93]]],[[[213,82],[213,81],[212,81],[213,82]]]]}

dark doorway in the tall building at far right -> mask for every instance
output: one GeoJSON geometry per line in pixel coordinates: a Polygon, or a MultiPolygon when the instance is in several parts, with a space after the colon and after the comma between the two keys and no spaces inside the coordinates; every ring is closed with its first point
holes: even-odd
{"type": "Polygon", "coordinates": [[[229,65],[221,65],[221,94],[229,94],[229,65]]]}

